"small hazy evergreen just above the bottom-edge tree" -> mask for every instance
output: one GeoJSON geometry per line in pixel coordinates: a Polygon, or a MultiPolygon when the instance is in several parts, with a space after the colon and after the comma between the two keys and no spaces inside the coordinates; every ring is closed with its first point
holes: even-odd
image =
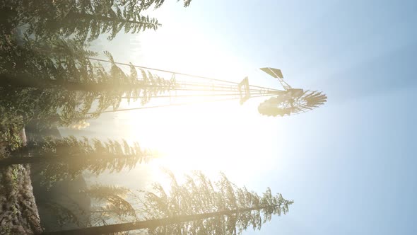
{"type": "Polygon", "coordinates": [[[136,164],[147,162],[153,154],[139,147],[109,140],[100,142],[98,139],[63,139],[45,138],[40,144],[28,144],[11,156],[0,159],[0,168],[16,164],[42,163],[44,184],[51,184],[64,178],[74,178],[83,171],[100,174],[103,171],[119,172],[123,168],[134,168],[136,164]]]}

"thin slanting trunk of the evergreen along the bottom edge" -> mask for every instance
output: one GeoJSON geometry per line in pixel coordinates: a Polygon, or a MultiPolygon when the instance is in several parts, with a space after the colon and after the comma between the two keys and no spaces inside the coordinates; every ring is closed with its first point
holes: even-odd
{"type": "Polygon", "coordinates": [[[163,219],[151,219],[146,221],[139,221],[139,222],[130,222],[130,223],[123,223],[123,224],[111,224],[111,225],[104,225],[98,227],[88,227],[88,228],[81,228],[81,229],[71,229],[71,230],[64,230],[64,231],[53,231],[53,232],[45,232],[44,235],[55,235],[55,234],[111,234],[117,233],[122,231],[131,231],[136,229],[148,229],[148,228],[155,228],[160,226],[165,226],[168,224],[178,224],[183,222],[189,222],[193,220],[199,219],[208,219],[211,217],[221,217],[223,215],[232,215],[242,212],[250,212],[252,210],[262,210],[269,207],[278,207],[281,205],[272,205],[272,206],[264,206],[264,207],[251,207],[245,209],[238,209],[238,210],[223,210],[220,212],[210,212],[210,213],[203,213],[203,214],[191,214],[191,215],[179,215],[176,217],[168,217],[163,219]]]}

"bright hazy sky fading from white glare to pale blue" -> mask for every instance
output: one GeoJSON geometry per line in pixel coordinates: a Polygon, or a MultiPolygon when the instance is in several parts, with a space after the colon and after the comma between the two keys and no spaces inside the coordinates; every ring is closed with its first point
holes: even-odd
{"type": "Polygon", "coordinates": [[[223,171],[295,201],[244,234],[417,234],[417,1],[317,3],[167,1],[149,12],[156,32],[96,42],[119,62],[279,88],[259,71],[276,67],[294,88],[328,96],[290,117],[259,115],[262,99],[102,115],[81,133],[165,154],[105,180],[140,188],[160,166],[223,171]]]}

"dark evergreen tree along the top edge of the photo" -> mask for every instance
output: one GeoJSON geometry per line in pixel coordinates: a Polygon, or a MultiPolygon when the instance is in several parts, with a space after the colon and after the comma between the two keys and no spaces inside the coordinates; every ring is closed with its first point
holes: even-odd
{"type": "MultiPolygon", "coordinates": [[[[18,17],[20,25],[28,26],[27,35],[34,34],[42,40],[74,35],[81,42],[95,40],[102,33],[110,33],[107,39],[112,40],[122,28],[124,33],[156,30],[158,20],[141,15],[141,10],[163,4],[160,0],[8,1],[16,6],[11,16],[18,17]]],[[[184,6],[190,1],[185,0],[184,6]]]]}

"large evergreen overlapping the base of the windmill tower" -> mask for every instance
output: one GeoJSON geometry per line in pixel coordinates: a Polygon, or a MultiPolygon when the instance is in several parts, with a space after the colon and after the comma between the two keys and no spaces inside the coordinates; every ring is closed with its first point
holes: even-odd
{"type": "Polygon", "coordinates": [[[31,118],[57,117],[60,125],[98,117],[107,108],[117,109],[127,101],[168,91],[175,81],[167,81],[136,68],[124,73],[110,53],[110,71],[90,61],[94,52],[84,50],[74,40],[41,42],[26,39],[16,45],[10,38],[1,41],[0,106],[31,118]],[[93,113],[88,115],[88,113],[93,113]]]}

